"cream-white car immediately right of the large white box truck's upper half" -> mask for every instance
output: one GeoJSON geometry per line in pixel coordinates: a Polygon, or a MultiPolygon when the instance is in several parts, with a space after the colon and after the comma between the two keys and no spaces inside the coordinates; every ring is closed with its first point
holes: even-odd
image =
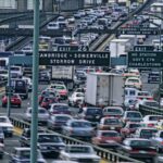
{"type": "Polygon", "coordinates": [[[138,77],[128,77],[125,82],[125,87],[131,87],[141,90],[142,83],[138,77]]]}

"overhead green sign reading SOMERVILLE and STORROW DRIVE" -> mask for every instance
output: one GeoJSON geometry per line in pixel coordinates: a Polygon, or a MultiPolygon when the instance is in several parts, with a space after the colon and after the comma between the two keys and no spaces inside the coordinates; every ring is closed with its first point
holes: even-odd
{"type": "Polygon", "coordinates": [[[109,66],[110,52],[39,51],[39,64],[109,66]]]}

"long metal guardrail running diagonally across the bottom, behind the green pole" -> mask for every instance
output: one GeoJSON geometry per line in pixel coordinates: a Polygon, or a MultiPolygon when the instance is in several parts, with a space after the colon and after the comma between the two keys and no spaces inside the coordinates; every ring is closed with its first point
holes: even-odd
{"type": "MultiPolygon", "coordinates": [[[[11,120],[12,124],[15,127],[18,127],[18,128],[22,128],[22,129],[30,127],[29,123],[26,123],[24,121],[20,121],[20,120],[15,118],[15,117],[11,117],[10,120],[11,120]]],[[[47,130],[48,133],[55,133],[55,131],[47,129],[45,127],[40,127],[40,128],[47,130]]],[[[57,134],[59,134],[59,133],[57,133],[57,134]]],[[[101,159],[104,159],[104,160],[106,160],[106,161],[109,161],[111,163],[120,163],[121,161],[129,162],[129,163],[143,163],[141,161],[138,161],[138,160],[135,160],[135,159],[131,159],[131,158],[128,158],[128,156],[125,156],[125,155],[121,155],[121,154],[112,152],[110,150],[106,150],[106,149],[93,146],[93,145],[91,145],[89,142],[85,142],[85,141],[82,141],[82,140],[78,140],[78,139],[74,139],[74,138],[64,136],[62,134],[59,134],[59,135],[61,136],[61,138],[63,139],[63,141],[66,145],[90,145],[90,146],[92,146],[93,149],[96,150],[97,154],[99,156],[101,156],[101,159]]]]}

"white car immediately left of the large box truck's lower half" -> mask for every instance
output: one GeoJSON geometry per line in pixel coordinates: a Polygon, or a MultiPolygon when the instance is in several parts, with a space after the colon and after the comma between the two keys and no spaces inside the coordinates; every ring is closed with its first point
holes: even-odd
{"type": "Polygon", "coordinates": [[[74,92],[68,98],[68,104],[73,106],[79,106],[84,103],[85,95],[83,92],[74,92]]]}

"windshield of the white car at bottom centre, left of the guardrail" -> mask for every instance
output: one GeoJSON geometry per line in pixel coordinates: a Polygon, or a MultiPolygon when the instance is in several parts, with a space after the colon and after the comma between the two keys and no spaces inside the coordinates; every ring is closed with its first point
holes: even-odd
{"type": "Polygon", "coordinates": [[[67,147],[66,152],[68,153],[91,153],[91,149],[89,147],[67,147]]]}

